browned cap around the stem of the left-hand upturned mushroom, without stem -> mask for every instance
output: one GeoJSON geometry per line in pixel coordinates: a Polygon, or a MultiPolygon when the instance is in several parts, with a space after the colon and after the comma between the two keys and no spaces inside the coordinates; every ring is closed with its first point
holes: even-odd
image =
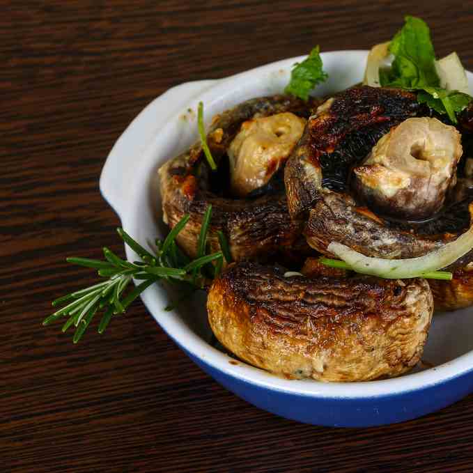
{"type": "Polygon", "coordinates": [[[219,164],[216,173],[210,171],[200,142],[162,166],[159,172],[163,219],[172,228],[185,214],[190,215],[178,235],[180,247],[189,256],[196,256],[202,217],[210,204],[208,242],[212,251],[219,249],[218,230],[226,235],[235,261],[267,259],[281,249],[291,252],[293,247],[295,251],[307,251],[307,244],[301,239],[302,223],[289,217],[281,173],[247,198],[235,199],[228,194],[226,151],[244,121],[286,111],[308,117],[314,104],[287,95],[243,102],[217,116],[208,132],[208,146],[219,164]]]}

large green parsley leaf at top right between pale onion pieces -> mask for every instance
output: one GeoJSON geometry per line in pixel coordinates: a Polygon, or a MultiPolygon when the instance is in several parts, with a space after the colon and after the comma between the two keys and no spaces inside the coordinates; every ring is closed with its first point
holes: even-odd
{"type": "Polygon", "coordinates": [[[405,17],[405,25],[391,40],[389,52],[394,61],[389,70],[380,70],[380,84],[419,91],[417,100],[457,123],[456,114],[467,107],[472,97],[440,87],[435,70],[435,51],[424,20],[405,17]]]}

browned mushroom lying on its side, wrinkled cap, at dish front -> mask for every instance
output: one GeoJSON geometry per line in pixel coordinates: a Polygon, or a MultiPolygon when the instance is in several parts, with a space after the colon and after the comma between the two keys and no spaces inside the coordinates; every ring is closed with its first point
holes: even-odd
{"type": "Polygon", "coordinates": [[[433,312],[424,279],[284,277],[239,263],[214,281],[208,319],[238,357],[287,378],[401,375],[421,357],[433,312]]]}

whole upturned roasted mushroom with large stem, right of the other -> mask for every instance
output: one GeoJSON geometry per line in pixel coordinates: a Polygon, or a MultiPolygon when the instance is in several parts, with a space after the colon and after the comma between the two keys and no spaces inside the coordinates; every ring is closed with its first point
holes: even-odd
{"type": "MultiPolygon", "coordinates": [[[[333,256],[329,246],[338,244],[385,260],[425,256],[471,230],[473,193],[458,192],[462,154],[458,130],[414,93],[350,88],[309,118],[285,169],[288,208],[323,254],[333,256]]],[[[464,252],[449,270],[472,260],[464,252]]],[[[438,286],[438,307],[460,307],[449,295],[453,283],[438,286]]],[[[472,304],[473,290],[468,298],[472,304]]]]}

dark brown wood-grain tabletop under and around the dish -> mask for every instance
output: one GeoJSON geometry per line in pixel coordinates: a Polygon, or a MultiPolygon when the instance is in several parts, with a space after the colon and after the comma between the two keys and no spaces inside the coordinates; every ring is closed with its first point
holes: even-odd
{"type": "Polygon", "coordinates": [[[49,302],[122,252],[105,157],[167,88],[309,52],[364,49],[423,16],[473,69],[465,1],[13,1],[0,15],[2,472],[473,471],[473,396],[401,425],[297,424],[198,369],[141,303],[74,346],[49,302]]]}

